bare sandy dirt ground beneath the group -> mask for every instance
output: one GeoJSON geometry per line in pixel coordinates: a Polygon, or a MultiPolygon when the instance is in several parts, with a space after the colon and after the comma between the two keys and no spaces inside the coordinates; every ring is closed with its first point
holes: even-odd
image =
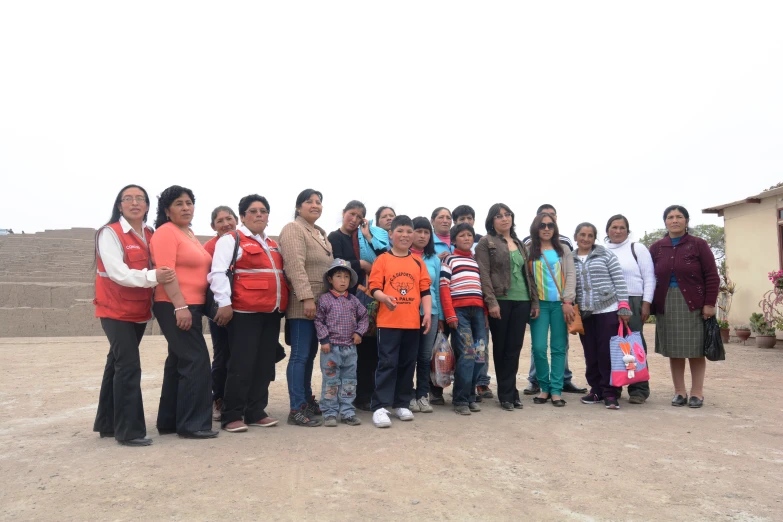
{"type": "MultiPolygon", "coordinates": [[[[566,394],[562,409],[526,397],[506,412],[485,400],[470,417],[441,406],[386,430],[366,412],[359,427],[285,425],[283,361],[268,409],[281,425],[195,441],[154,429],[166,345],[150,336],[154,443],[129,448],[92,432],[107,349],[101,337],[0,339],[1,519],[783,520],[783,350],[728,345],[700,410],[670,406],[668,363],[652,355],[644,405],[566,394]]],[[[571,353],[582,384],[575,337],[571,353]]]]}

